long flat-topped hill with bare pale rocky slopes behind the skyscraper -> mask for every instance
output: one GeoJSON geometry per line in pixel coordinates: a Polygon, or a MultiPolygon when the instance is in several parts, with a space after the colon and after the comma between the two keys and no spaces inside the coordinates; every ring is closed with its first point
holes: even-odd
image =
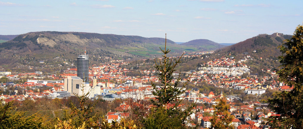
{"type": "MultiPolygon", "coordinates": [[[[83,32],[30,32],[0,43],[0,55],[3,57],[0,66],[33,70],[60,66],[59,70],[62,70],[63,66],[75,64],[77,56],[83,54],[85,48],[91,64],[155,58],[161,57],[159,47],[164,47],[164,44],[164,38],[83,32]]],[[[171,49],[170,56],[181,55],[184,51],[201,51],[195,47],[178,45],[169,39],[167,44],[168,49],[171,49]]]]}

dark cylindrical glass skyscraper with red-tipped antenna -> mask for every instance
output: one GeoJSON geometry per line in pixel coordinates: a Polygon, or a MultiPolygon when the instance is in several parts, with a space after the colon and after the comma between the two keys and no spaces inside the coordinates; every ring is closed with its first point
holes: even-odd
{"type": "Polygon", "coordinates": [[[88,55],[86,55],[86,48],[84,55],[79,55],[77,58],[77,76],[88,83],[88,55]]]}

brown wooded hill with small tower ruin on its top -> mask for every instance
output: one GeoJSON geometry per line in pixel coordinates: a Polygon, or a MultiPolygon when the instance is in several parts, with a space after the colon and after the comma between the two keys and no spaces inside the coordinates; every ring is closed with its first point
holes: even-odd
{"type": "Polygon", "coordinates": [[[291,38],[291,35],[282,33],[259,34],[258,36],[246,39],[231,46],[218,49],[213,58],[234,57],[236,61],[248,58],[244,64],[251,67],[251,73],[261,73],[261,69],[278,69],[280,65],[278,56],[281,55],[278,46],[285,39],[291,38]]]}

